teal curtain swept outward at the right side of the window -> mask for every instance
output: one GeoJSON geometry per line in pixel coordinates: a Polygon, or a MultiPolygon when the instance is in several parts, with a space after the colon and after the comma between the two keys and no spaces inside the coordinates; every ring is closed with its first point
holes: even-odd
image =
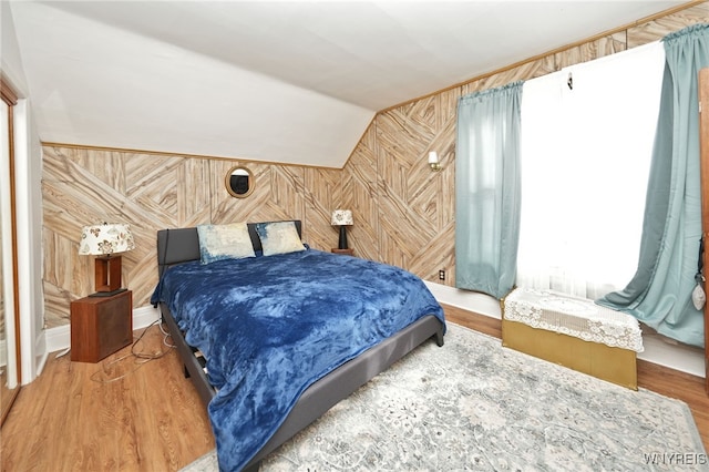
{"type": "Polygon", "coordinates": [[[597,300],[658,332],[703,347],[703,316],[691,302],[699,240],[700,69],[709,66],[709,24],[667,35],[667,63],[643,223],[638,269],[623,290],[597,300]]]}

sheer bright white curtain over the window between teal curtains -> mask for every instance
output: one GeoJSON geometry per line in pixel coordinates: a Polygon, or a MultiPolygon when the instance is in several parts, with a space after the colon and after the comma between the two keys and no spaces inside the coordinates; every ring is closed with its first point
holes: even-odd
{"type": "Polygon", "coordinates": [[[595,299],[633,277],[664,62],[653,43],[525,82],[517,286],[595,299]]]}

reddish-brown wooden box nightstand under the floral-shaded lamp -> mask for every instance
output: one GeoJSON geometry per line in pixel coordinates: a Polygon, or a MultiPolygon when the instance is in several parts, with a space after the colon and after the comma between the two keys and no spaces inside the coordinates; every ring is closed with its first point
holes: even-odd
{"type": "Polygon", "coordinates": [[[71,302],[71,360],[99,362],[133,342],[133,293],[71,302]]]}

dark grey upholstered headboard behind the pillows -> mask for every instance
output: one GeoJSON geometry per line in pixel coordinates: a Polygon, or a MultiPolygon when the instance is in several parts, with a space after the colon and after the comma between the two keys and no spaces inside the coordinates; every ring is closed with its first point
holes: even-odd
{"type": "MultiPolygon", "coordinates": [[[[300,219],[292,219],[302,237],[300,219]]],[[[270,223],[270,222],[268,222],[270,223]]],[[[256,233],[256,223],[248,223],[248,234],[251,237],[254,250],[261,250],[261,240],[256,233]]],[[[199,260],[199,235],[197,227],[160,229],[157,232],[157,275],[163,276],[169,266],[191,260],[199,260]]]]}

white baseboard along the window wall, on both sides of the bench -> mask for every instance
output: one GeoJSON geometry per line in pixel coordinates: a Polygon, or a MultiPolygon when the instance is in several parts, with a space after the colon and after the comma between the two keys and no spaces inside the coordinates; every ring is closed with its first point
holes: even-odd
{"type": "MultiPolygon", "coordinates": [[[[500,300],[476,291],[461,290],[446,285],[425,283],[431,294],[442,304],[473,311],[491,318],[502,319],[500,300]]],[[[638,353],[638,359],[692,376],[706,377],[705,359],[701,349],[690,346],[674,345],[659,337],[643,336],[644,352],[638,353]]]]}

